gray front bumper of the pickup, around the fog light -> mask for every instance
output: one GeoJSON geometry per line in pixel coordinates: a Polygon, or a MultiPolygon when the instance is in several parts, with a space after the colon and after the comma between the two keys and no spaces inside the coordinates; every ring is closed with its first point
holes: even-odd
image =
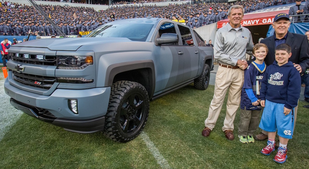
{"type": "Polygon", "coordinates": [[[4,81],[4,90],[11,104],[33,117],[65,130],[91,133],[104,128],[110,87],[90,89],[56,89],[50,95],[32,93],[11,85],[11,78],[4,81]],[[78,114],[74,114],[68,99],[78,100],[78,114]]]}

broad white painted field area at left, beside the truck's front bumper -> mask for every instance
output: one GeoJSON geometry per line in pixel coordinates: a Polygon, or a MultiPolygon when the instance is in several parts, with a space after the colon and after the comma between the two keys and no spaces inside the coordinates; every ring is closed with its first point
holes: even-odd
{"type": "MultiPolygon", "coordinates": [[[[3,76],[0,73],[0,76],[3,76]]],[[[4,93],[4,79],[0,78],[0,141],[23,113],[10,104],[10,97],[4,93]]]]}

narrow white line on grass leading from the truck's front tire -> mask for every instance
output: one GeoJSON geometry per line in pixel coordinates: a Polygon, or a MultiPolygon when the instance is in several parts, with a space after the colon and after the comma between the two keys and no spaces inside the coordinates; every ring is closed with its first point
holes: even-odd
{"type": "Polygon", "coordinates": [[[146,143],[146,146],[148,147],[148,149],[150,150],[150,152],[152,153],[152,155],[155,157],[155,159],[157,160],[157,163],[162,167],[162,168],[171,168],[170,165],[168,165],[166,159],[164,159],[164,157],[160,154],[159,150],[157,149],[157,147],[155,147],[155,144],[150,140],[150,138],[148,137],[148,135],[142,131],[140,136],[142,137],[142,139],[144,140],[144,142],[146,143]]]}

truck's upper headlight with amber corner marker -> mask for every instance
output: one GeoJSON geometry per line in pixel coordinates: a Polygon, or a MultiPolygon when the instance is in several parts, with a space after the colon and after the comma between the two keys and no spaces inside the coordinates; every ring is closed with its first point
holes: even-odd
{"type": "Polygon", "coordinates": [[[57,56],[57,69],[84,69],[93,64],[92,56],[57,56]]]}

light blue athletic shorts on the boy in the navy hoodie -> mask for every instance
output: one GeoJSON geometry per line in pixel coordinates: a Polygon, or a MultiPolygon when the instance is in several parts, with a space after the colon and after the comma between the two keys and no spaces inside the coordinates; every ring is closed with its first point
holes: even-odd
{"type": "Polygon", "coordinates": [[[259,127],[268,132],[276,132],[283,138],[292,138],[294,129],[294,108],[288,115],[284,115],[284,104],[265,101],[259,127]]]}

